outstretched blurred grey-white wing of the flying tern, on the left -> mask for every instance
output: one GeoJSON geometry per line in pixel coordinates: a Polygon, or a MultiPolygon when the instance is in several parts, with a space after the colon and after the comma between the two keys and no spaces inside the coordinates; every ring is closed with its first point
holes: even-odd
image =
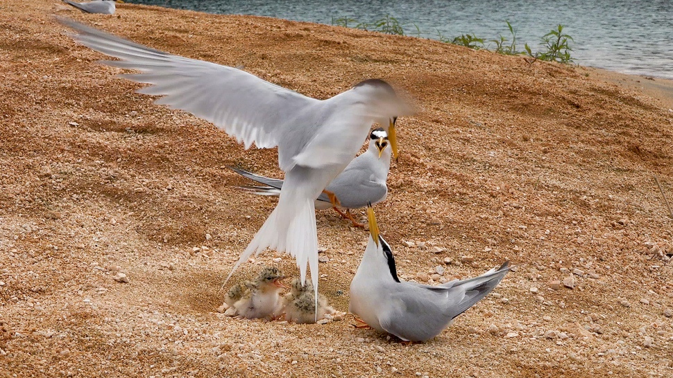
{"type": "Polygon", "coordinates": [[[157,104],[209,120],[246,149],[253,142],[259,148],[275,147],[283,125],[320,102],[239,69],[164,53],[75,21],[59,21],[77,30],[73,37],[81,44],[121,60],[103,63],[141,71],[123,75],[152,84],[139,93],[163,96],[157,104]]]}

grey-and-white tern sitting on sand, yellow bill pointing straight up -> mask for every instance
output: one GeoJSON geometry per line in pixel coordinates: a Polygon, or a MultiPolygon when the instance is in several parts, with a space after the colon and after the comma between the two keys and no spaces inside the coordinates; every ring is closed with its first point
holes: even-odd
{"type": "Polygon", "coordinates": [[[490,293],[509,271],[509,262],[482,276],[430,286],[402,282],[390,246],[379,235],[374,210],[367,209],[370,237],[350,284],[348,311],[380,332],[404,341],[426,341],[490,293]]]}

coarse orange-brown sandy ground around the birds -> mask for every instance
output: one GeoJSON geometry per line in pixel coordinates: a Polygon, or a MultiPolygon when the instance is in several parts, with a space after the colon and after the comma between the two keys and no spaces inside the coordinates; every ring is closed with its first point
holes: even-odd
{"type": "MultiPolygon", "coordinates": [[[[117,12],[0,3],[0,376],[673,375],[673,221],[654,182],[673,201],[670,82],[278,19],[117,12]],[[423,107],[399,120],[402,156],[377,206],[398,272],[519,269],[410,346],[350,316],[218,314],[223,278],[275,206],[232,189],[244,181],[226,166],[280,177],[275,150],[244,151],[134,93],[53,14],[317,98],[395,82],[423,107]]],[[[366,237],[318,213],[321,291],[341,311],[366,237]]],[[[286,255],[280,266],[297,273],[286,255]]]]}

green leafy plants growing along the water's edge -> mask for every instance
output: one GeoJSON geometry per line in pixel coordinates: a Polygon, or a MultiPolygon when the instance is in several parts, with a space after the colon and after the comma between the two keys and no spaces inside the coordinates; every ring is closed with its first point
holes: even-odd
{"type": "MultiPolygon", "coordinates": [[[[507,28],[509,28],[509,38],[511,39],[508,39],[508,37],[504,37],[503,35],[498,35],[497,39],[488,40],[488,42],[493,42],[495,44],[495,48],[486,46],[486,39],[472,34],[461,34],[458,37],[451,39],[445,37],[439,30],[437,30],[438,39],[441,42],[465,46],[475,50],[485,48],[503,55],[527,55],[528,57],[532,58],[532,60],[528,60],[530,64],[533,64],[533,62],[536,60],[559,62],[563,64],[572,63],[573,60],[570,56],[570,52],[572,51],[572,48],[570,48],[570,41],[574,42],[574,39],[572,39],[570,35],[563,33],[563,25],[557,25],[556,28],[550,30],[549,33],[542,37],[545,50],[533,52],[529,44],[524,44],[523,51],[517,50],[516,29],[514,29],[509,21],[505,20],[505,22],[507,24],[507,28]]],[[[385,34],[406,35],[404,33],[404,27],[402,26],[402,23],[400,23],[398,19],[392,17],[391,15],[386,15],[385,17],[370,23],[358,22],[357,19],[352,19],[350,17],[339,17],[337,19],[332,17],[332,25],[377,31],[385,34]]],[[[416,24],[411,25],[416,28],[416,32],[413,34],[416,37],[420,37],[420,29],[418,26],[416,24]]]]}

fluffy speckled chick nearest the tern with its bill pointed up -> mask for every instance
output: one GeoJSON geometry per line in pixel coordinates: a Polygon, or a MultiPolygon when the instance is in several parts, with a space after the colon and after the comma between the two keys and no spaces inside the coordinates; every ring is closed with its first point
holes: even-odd
{"type": "Polygon", "coordinates": [[[327,305],[327,298],[322,294],[318,294],[316,300],[311,282],[303,285],[299,278],[293,278],[289,293],[283,297],[282,312],[286,321],[313,324],[324,318],[325,314],[334,314],[335,311],[327,305]]]}

